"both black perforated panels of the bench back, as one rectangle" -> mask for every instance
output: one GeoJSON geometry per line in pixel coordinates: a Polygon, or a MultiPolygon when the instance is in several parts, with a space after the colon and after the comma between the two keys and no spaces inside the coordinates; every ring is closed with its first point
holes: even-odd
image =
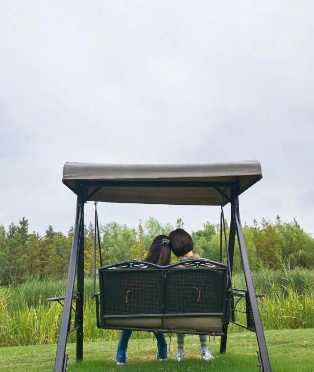
{"type": "Polygon", "coordinates": [[[226,268],[99,269],[101,317],[225,315],[226,268]]]}

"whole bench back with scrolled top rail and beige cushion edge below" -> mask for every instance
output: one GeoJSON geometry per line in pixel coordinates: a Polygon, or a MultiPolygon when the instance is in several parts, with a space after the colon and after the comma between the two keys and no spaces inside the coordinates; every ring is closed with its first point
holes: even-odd
{"type": "Polygon", "coordinates": [[[102,327],[220,331],[227,319],[227,266],[140,261],[99,269],[102,327]]]}

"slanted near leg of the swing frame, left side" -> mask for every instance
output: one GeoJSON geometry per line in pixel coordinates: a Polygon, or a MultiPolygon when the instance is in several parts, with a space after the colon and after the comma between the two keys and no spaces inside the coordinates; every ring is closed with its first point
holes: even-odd
{"type": "Polygon", "coordinates": [[[82,227],[83,211],[84,211],[83,193],[80,193],[77,196],[77,201],[76,201],[76,216],[75,216],[73,242],[72,242],[72,249],[71,249],[71,256],[70,256],[70,266],[69,266],[66,293],[65,293],[65,298],[64,298],[64,305],[63,305],[63,310],[62,310],[62,319],[61,319],[61,326],[60,326],[60,331],[59,331],[56,358],[55,358],[55,363],[54,363],[54,372],[64,372],[65,365],[66,365],[65,352],[66,352],[66,346],[67,346],[68,326],[69,326],[71,310],[72,310],[72,296],[73,296],[73,288],[74,288],[74,280],[75,280],[75,269],[76,269],[76,261],[77,261],[77,254],[78,254],[79,238],[80,238],[80,233],[81,233],[80,230],[82,227]]]}

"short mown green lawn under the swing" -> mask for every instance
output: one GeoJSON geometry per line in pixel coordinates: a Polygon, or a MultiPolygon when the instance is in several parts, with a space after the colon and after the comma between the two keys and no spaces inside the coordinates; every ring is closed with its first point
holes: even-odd
{"type": "MultiPolygon", "coordinates": [[[[272,371],[314,371],[314,329],[271,330],[266,331],[266,342],[272,371]]],[[[75,345],[68,344],[70,360],[68,371],[256,371],[257,343],[255,334],[241,332],[228,336],[227,351],[219,354],[220,338],[215,342],[211,337],[210,350],[215,360],[200,360],[197,336],[186,336],[186,360],[176,362],[175,337],[172,337],[169,359],[156,362],[156,341],[152,339],[130,340],[128,364],[117,366],[115,354],[116,341],[84,344],[84,361],[75,362],[75,345]]],[[[169,339],[167,339],[169,345],[169,339]]],[[[0,349],[0,371],[52,371],[56,345],[2,347],[0,349]]]]}

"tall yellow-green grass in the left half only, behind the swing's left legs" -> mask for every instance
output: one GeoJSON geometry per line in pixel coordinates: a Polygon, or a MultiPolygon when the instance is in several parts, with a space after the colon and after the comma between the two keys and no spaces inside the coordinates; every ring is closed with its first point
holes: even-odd
{"type": "MultiPolygon", "coordinates": [[[[0,347],[56,343],[62,307],[57,302],[47,302],[47,298],[62,296],[65,287],[65,279],[39,281],[36,278],[17,287],[0,287],[0,347]]],[[[85,279],[84,340],[118,340],[120,331],[97,328],[92,295],[93,280],[88,277],[85,279]]],[[[152,335],[134,332],[133,337],[152,335]]],[[[75,341],[75,332],[70,333],[68,341],[75,341]]]]}

